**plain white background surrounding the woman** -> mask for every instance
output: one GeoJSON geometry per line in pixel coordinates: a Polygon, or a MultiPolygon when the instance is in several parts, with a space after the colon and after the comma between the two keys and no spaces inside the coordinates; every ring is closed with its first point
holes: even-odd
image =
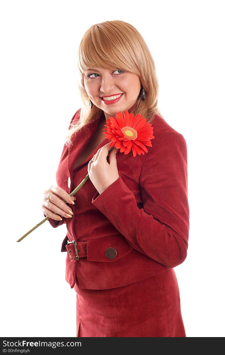
{"type": "Polygon", "coordinates": [[[70,120],[81,107],[84,32],[131,23],[156,65],[159,108],[188,148],[188,255],[175,268],[187,337],[224,337],[224,43],[222,1],[1,3],[1,336],[76,336],[65,224],[43,219],[70,120]]]}

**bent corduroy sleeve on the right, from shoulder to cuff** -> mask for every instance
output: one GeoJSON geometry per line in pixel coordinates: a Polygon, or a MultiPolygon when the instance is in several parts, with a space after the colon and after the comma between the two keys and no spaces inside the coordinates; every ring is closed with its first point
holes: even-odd
{"type": "Polygon", "coordinates": [[[175,267],[186,259],[189,234],[187,145],[181,133],[167,131],[156,138],[146,153],[139,183],[141,209],[121,177],[97,192],[92,203],[134,249],[175,267]]]}

